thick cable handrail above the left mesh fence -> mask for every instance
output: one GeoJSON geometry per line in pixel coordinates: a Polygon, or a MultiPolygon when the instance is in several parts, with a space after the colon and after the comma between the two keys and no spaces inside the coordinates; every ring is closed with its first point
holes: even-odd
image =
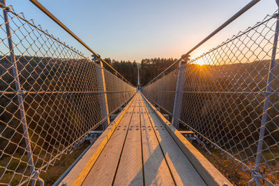
{"type": "MultiPolygon", "coordinates": [[[[61,28],[68,32],[70,34],[70,36],[73,36],[73,38],[75,38],[78,42],[80,42],[80,44],[82,44],[84,47],[86,47],[86,49],[89,49],[90,52],[92,52],[95,56],[98,57],[98,59],[100,59],[100,61],[102,61],[103,63],[105,63],[108,67],[110,67],[112,70],[114,70],[114,72],[116,72],[116,74],[118,74],[120,77],[122,77],[126,82],[128,82],[128,80],[123,77],[119,72],[117,72],[109,63],[107,63],[107,61],[103,60],[99,54],[97,54],[96,52],[93,51],[93,49],[91,49],[88,45],[85,44],[85,42],[83,42],[79,37],[77,37],[75,35],[75,33],[73,33],[73,31],[70,31],[70,29],[68,29],[67,26],[65,26],[65,24],[63,24],[61,21],[59,21],[52,13],[50,13],[49,10],[47,10],[47,8],[45,8],[41,3],[39,3],[37,0],[29,0],[31,1],[31,3],[33,3],[35,6],[37,6],[40,10],[43,11],[43,13],[45,13],[45,15],[47,15],[48,17],[50,17],[50,19],[52,19],[54,22],[56,22],[56,24],[58,24],[59,26],[61,26],[61,28]]],[[[130,84],[130,82],[128,82],[130,84]]]]}

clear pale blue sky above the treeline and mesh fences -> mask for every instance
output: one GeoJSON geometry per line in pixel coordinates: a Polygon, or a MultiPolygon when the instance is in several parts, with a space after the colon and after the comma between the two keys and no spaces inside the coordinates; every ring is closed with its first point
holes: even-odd
{"type": "MultiPolygon", "coordinates": [[[[103,58],[140,62],[179,58],[250,0],[39,0],[103,58]]],[[[28,0],[6,0],[17,13],[41,24],[67,45],[90,52],[28,0]]],[[[200,47],[193,56],[272,14],[275,0],[262,0],[200,47]]]]}

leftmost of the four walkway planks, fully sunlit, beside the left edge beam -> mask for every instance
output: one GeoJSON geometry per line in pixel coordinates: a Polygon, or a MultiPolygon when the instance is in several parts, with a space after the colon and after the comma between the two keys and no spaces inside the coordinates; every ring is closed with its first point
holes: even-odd
{"type": "Polygon", "coordinates": [[[123,116],[122,121],[116,127],[110,141],[108,141],[82,185],[112,185],[114,173],[119,161],[128,125],[133,116],[134,108],[135,102],[132,103],[125,116],[123,116]]]}

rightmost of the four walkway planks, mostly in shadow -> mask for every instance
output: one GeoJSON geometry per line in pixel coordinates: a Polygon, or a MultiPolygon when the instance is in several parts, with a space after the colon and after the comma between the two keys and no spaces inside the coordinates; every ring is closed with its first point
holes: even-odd
{"type": "Polygon", "coordinates": [[[146,100],[144,102],[176,185],[206,185],[146,100]]]}

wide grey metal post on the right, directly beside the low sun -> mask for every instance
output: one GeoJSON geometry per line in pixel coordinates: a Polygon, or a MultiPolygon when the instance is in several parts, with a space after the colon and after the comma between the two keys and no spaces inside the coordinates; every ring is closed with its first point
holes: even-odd
{"type": "Polygon", "coordinates": [[[184,66],[187,61],[179,61],[179,72],[176,79],[176,90],[174,96],[174,109],[172,112],[172,125],[179,129],[179,117],[181,112],[181,104],[182,104],[182,95],[181,91],[184,88],[185,76],[183,75],[184,66]]]}

